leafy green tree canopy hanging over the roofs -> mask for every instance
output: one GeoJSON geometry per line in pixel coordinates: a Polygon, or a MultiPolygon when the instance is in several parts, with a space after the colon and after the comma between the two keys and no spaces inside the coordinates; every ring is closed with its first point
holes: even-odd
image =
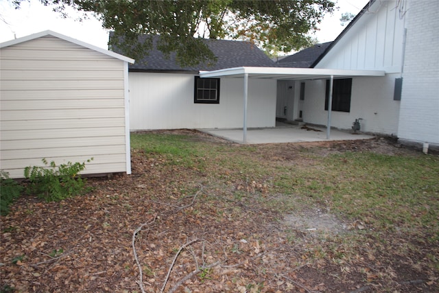
{"type": "MultiPolygon", "coordinates": [[[[15,0],[19,7],[26,0],[15,0]]],[[[292,51],[311,45],[309,32],[317,30],[331,0],[40,0],[64,12],[71,6],[93,12],[112,30],[123,54],[134,59],[152,49],[152,39],[139,43],[139,34],[160,35],[158,49],[176,52],[182,66],[215,60],[202,38],[249,40],[265,51],[292,51]]]]}

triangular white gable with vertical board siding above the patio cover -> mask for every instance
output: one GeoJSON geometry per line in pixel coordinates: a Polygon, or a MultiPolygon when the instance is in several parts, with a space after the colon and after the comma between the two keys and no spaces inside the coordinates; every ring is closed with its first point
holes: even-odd
{"type": "Polygon", "coordinates": [[[375,1],[316,68],[401,72],[405,18],[397,3],[401,1],[375,1]]]}

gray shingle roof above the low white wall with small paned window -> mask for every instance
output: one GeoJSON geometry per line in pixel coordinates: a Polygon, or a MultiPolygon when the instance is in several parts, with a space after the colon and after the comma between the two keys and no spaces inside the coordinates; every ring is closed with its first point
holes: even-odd
{"type": "MultiPolygon", "coordinates": [[[[110,34],[110,38],[111,38],[110,34]]],[[[140,36],[139,39],[147,36],[140,36]]],[[[159,36],[153,37],[154,44],[159,36]]],[[[274,67],[275,62],[272,61],[261,49],[250,42],[239,40],[203,40],[213,54],[217,56],[215,65],[197,65],[195,67],[180,67],[176,63],[175,55],[171,54],[170,58],[165,58],[161,51],[154,49],[147,52],[141,60],[137,59],[134,65],[129,65],[130,71],[212,71],[218,69],[226,69],[232,67],[274,67]]],[[[114,48],[117,51],[117,48],[114,48]]]]}

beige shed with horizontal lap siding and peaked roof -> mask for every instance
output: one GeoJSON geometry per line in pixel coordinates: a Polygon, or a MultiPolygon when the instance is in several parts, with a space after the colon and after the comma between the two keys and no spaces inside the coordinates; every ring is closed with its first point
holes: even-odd
{"type": "Polygon", "coordinates": [[[0,165],[86,164],[83,174],[130,174],[128,63],[46,31],[0,44],[0,165]]]}

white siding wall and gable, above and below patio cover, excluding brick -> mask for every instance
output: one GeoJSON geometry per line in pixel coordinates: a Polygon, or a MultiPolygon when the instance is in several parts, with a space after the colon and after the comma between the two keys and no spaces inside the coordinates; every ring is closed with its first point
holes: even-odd
{"type": "MultiPolygon", "coordinates": [[[[353,78],[351,111],[333,111],[331,125],[351,129],[361,118],[361,131],[396,136],[400,101],[394,101],[394,83],[401,78],[405,17],[395,0],[375,1],[342,34],[315,68],[346,70],[381,70],[379,78],[353,78]]],[[[307,82],[304,121],[324,124],[324,80],[307,82]],[[320,83],[320,84],[319,84],[320,83]],[[318,91],[318,92],[317,92],[318,91]]]]}

